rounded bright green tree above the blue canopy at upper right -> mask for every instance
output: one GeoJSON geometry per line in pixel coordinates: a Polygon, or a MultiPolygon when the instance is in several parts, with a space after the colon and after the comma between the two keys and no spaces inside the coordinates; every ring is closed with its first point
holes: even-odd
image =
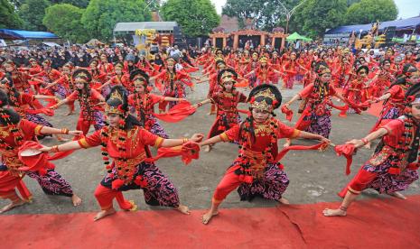
{"type": "Polygon", "coordinates": [[[347,10],[346,24],[366,24],[397,19],[394,0],[361,0],[347,10]]]}

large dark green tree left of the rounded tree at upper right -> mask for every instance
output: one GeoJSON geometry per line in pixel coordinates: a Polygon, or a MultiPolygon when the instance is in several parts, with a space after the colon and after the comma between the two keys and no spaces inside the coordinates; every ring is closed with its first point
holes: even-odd
{"type": "Polygon", "coordinates": [[[296,10],[291,31],[303,32],[313,38],[322,37],[326,29],[344,23],[347,0],[309,0],[296,10]]]}

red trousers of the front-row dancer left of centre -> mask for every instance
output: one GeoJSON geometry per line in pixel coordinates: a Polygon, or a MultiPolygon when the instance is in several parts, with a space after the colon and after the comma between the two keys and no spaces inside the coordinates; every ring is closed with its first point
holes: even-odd
{"type": "Polygon", "coordinates": [[[98,185],[97,189],[95,189],[95,198],[97,198],[99,206],[102,210],[113,208],[112,201],[114,198],[117,198],[119,208],[125,210],[133,208],[133,203],[126,200],[121,191],[108,189],[100,184],[98,185]]]}

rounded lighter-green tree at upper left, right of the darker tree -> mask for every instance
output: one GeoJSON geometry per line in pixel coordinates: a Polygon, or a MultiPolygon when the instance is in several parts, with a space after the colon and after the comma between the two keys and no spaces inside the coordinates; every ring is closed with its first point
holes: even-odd
{"type": "Polygon", "coordinates": [[[45,10],[42,23],[63,39],[87,42],[88,34],[81,23],[83,9],[69,4],[51,5],[45,10]]]}

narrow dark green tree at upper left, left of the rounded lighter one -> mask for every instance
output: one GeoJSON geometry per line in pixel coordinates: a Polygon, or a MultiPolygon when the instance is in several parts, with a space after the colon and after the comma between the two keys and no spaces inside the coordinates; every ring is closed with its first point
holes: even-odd
{"type": "Polygon", "coordinates": [[[30,31],[46,31],[42,24],[45,9],[50,6],[47,0],[25,0],[18,14],[23,20],[23,29],[30,31]]]}

